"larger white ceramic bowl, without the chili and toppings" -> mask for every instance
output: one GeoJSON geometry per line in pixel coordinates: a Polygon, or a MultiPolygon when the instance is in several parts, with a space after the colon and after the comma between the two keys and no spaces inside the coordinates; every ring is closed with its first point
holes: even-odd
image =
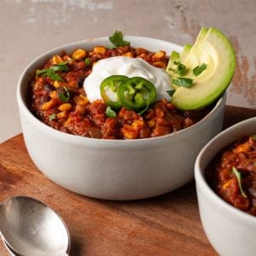
{"type": "MultiPolygon", "coordinates": [[[[181,46],[153,38],[125,37],[134,47],[180,51],[181,46]]],[[[67,44],[39,56],[21,74],[17,101],[26,148],[49,179],[81,195],[134,200],[160,195],[188,183],[201,148],[222,129],[225,96],[196,125],[164,137],[140,140],[101,140],[56,131],[35,118],[26,96],[35,70],[62,50],[110,46],[108,38],[67,44]]]]}

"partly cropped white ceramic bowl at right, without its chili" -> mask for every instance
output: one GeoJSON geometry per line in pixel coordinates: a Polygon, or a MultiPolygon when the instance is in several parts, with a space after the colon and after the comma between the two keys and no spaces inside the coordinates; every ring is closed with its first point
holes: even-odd
{"type": "Polygon", "coordinates": [[[230,206],[205,179],[205,169],[216,154],[241,136],[256,134],[256,117],[224,130],[201,150],[195,161],[195,183],[201,222],[212,246],[224,256],[256,255],[256,217],[230,206]]]}

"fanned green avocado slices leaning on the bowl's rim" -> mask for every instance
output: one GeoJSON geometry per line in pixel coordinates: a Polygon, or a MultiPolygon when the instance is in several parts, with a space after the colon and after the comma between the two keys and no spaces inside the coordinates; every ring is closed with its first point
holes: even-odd
{"type": "MultiPolygon", "coordinates": [[[[179,61],[186,67],[182,77],[193,79],[193,84],[189,88],[172,84],[175,89],[172,103],[178,109],[192,110],[206,107],[223,94],[235,72],[236,54],[223,32],[215,27],[203,27],[195,44],[190,49],[184,47],[179,61]],[[193,69],[202,64],[206,64],[207,68],[195,76],[193,69]]],[[[167,68],[170,65],[168,63],[167,68]]],[[[172,79],[181,77],[170,70],[166,71],[172,79]]]]}

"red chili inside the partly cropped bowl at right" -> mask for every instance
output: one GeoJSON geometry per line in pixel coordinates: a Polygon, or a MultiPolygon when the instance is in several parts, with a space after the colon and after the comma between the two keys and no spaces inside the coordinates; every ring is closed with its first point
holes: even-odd
{"type": "Polygon", "coordinates": [[[224,201],[256,216],[256,136],[224,148],[207,167],[206,177],[224,201]]]}

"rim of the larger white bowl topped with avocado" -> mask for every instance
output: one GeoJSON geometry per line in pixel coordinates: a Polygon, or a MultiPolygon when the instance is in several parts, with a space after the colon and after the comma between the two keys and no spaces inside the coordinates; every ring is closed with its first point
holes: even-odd
{"type": "MultiPolygon", "coordinates": [[[[162,39],[157,39],[157,38],[148,38],[148,37],[141,37],[141,36],[125,36],[124,37],[126,40],[152,40],[155,43],[159,43],[159,44],[168,44],[168,48],[175,48],[175,49],[179,49],[180,51],[183,49],[183,46],[178,45],[178,44],[174,44],[172,42],[168,42],[162,39]]],[[[46,55],[53,55],[56,51],[63,51],[69,47],[73,47],[75,45],[78,44],[87,44],[87,43],[97,43],[98,41],[101,42],[105,42],[106,44],[109,44],[109,39],[108,37],[99,37],[99,38],[88,38],[88,39],[84,39],[84,40],[80,40],[80,41],[75,41],[72,43],[68,43],[68,44],[62,44],[60,46],[57,46],[53,49],[49,49],[48,51],[44,52],[41,55],[38,55],[38,57],[36,57],[34,60],[32,60],[23,70],[23,72],[20,75],[20,79],[18,80],[18,85],[17,85],[17,89],[16,89],[16,101],[18,102],[18,108],[20,110],[20,112],[22,111],[22,113],[26,114],[26,117],[28,119],[30,119],[34,125],[37,125],[38,129],[43,129],[43,131],[45,133],[48,133],[50,136],[52,137],[57,137],[60,138],[62,140],[67,140],[69,143],[111,143],[114,145],[119,145],[119,144],[144,144],[144,143],[160,143],[160,141],[162,140],[166,140],[166,137],[174,137],[177,136],[179,134],[183,134],[183,132],[186,132],[190,129],[195,129],[198,125],[201,125],[201,123],[205,122],[207,120],[207,118],[209,116],[212,116],[213,113],[215,113],[215,111],[219,108],[219,106],[225,102],[226,97],[227,97],[227,93],[226,90],[224,91],[224,93],[219,96],[218,100],[215,103],[214,108],[212,108],[212,110],[207,113],[207,115],[201,119],[199,122],[197,122],[195,125],[189,126],[187,128],[184,128],[180,131],[175,131],[172,132],[170,134],[164,135],[164,136],[160,136],[160,137],[149,137],[149,138],[143,138],[143,139],[132,139],[132,140],[126,140],[126,139],[98,139],[98,138],[91,138],[91,137],[81,137],[78,135],[73,135],[73,134],[68,134],[62,131],[58,131],[55,130],[54,128],[50,127],[49,125],[44,124],[44,122],[42,122],[41,120],[39,120],[37,117],[35,117],[32,112],[30,111],[30,109],[27,107],[26,102],[24,101],[23,97],[22,97],[22,89],[23,87],[27,89],[26,85],[23,85],[23,79],[25,79],[29,69],[36,65],[38,63],[38,61],[41,61],[41,59],[45,58],[46,55]]],[[[86,45],[84,45],[84,47],[86,47],[86,45]]]]}

